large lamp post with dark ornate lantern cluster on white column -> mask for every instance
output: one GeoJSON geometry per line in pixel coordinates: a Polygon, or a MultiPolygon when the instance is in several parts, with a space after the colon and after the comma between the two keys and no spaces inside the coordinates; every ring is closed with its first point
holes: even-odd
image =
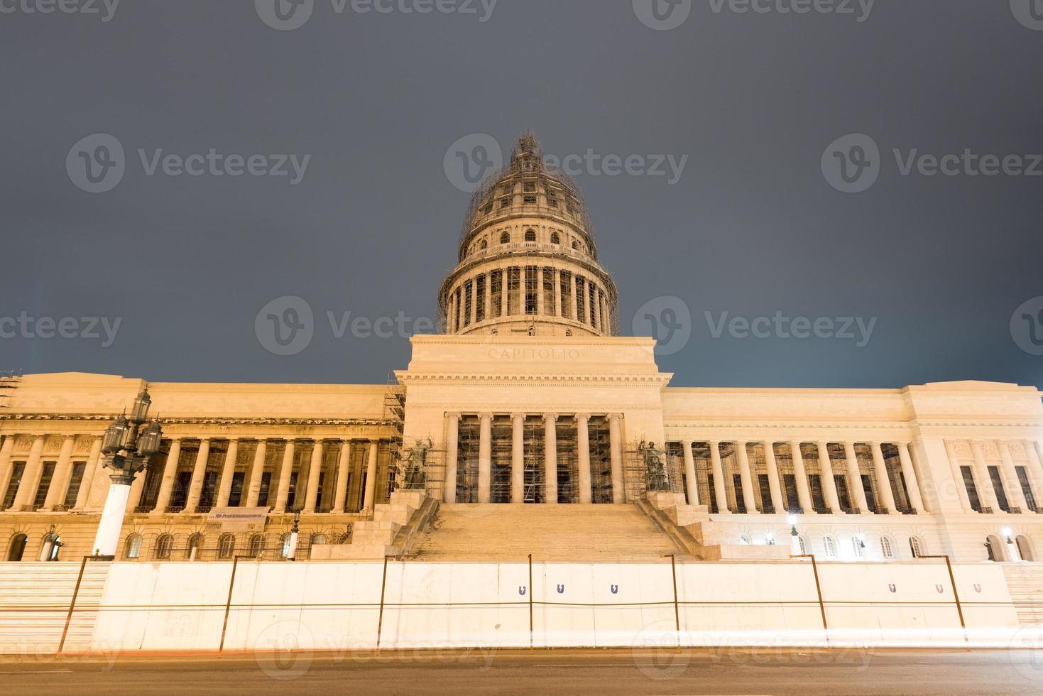
{"type": "Polygon", "coordinates": [[[160,427],[159,419],[148,423],[148,408],[151,403],[148,389],[142,389],[130,407],[130,416],[120,414],[105,429],[105,435],[101,440],[101,452],[104,455],[102,465],[113,470],[113,473],[108,477],[112,484],[105,496],[105,507],[101,511],[98,533],[94,537],[96,555],[116,555],[120,529],[123,528],[123,518],[130,498],[130,484],[134,483],[135,476],[148,466],[149,458],[160,451],[163,428],[160,427]],[[145,426],[144,429],[142,426],[145,426]]]}

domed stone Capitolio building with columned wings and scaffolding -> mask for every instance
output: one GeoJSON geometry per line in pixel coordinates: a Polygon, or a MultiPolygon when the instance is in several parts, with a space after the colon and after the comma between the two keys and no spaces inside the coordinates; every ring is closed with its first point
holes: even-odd
{"type": "Polygon", "coordinates": [[[1043,554],[1037,388],[673,386],[620,335],[584,201],[531,136],[476,192],[438,304],[390,383],[0,379],[0,560],[1043,554]],[[103,438],[141,398],[162,438],[115,510],[103,438]]]}

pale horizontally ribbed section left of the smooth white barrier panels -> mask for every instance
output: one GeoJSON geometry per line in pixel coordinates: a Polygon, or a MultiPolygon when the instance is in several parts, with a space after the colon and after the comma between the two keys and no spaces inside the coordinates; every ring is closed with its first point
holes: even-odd
{"type": "MultiPolygon", "coordinates": [[[[78,562],[0,562],[0,652],[54,654],[79,567],[78,562]]],[[[108,567],[105,561],[87,563],[63,652],[90,649],[108,567]]]]}

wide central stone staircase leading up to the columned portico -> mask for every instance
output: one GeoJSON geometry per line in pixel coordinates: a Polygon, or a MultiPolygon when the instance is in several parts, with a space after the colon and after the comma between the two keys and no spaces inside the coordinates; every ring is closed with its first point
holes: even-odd
{"type": "Polygon", "coordinates": [[[414,560],[648,561],[681,553],[634,505],[441,505],[414,560]]]}

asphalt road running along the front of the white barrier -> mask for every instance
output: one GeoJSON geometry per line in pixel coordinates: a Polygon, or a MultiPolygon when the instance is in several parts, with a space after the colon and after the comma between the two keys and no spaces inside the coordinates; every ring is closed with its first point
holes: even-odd
{"type": "Polygon", "coordinates": [[[4,694],[1040,694],[1043,651],[472,650],[0,661],[4,694]]]}

